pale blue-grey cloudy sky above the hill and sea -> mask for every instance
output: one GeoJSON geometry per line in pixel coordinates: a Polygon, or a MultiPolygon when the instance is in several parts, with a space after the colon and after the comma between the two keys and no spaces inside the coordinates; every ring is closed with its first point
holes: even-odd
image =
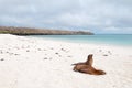
{"type": "Polygon", "coordinates": [[[0,0],[0,26],[132,34],[132,0],[0,0]]]}

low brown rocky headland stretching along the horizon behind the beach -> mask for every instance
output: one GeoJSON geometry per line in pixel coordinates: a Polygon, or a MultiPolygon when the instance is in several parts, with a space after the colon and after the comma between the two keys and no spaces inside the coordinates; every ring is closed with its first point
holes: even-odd
{"type": "Polygon", "coordinates": [[[62,31],[50,29],[31,29],[31,28],[14,28],[0,26],[0,33],[15,34],[15,35],[92,35],[91,32],[84,31],[62,31]]]}

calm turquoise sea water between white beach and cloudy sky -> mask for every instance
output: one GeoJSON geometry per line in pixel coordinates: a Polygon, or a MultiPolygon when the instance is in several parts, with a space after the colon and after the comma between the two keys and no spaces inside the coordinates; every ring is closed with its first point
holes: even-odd
{"type": "Polygon", "coordinates": [[[31,35],[37,38],[88,44],[132,46],[132,34],[31,35]]]}

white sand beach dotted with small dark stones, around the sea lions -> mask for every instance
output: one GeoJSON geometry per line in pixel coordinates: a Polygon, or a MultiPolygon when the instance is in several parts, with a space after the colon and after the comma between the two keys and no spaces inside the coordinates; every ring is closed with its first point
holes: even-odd
{"type": "Polygon", "coordinates": [[[0,34],[0,88],[132,88],[132,47],[0,34]],[[106,75],[73,70],[88,54],[106,75]]]}

